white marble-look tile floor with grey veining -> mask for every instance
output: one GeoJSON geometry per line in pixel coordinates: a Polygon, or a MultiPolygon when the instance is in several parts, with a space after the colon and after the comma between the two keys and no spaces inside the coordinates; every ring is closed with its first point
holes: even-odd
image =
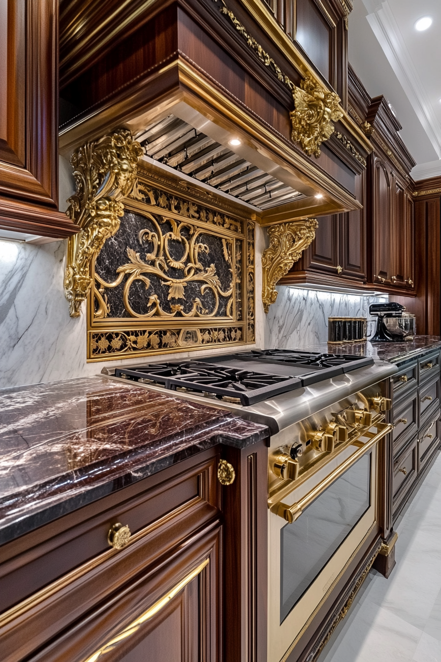
{"type": "Polygon", "coordinates": [[[396,528],[391,576],[369,573],[319,662],[441,662],[441,455],[396,528]]]}

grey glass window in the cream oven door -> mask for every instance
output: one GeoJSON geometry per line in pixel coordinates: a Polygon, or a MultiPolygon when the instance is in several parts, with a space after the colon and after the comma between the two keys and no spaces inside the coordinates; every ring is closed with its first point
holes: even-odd
{"type": "Polygon", "coordinates": [[[371,453],[280,532],[280,622],[370,507],[371,453]]]}

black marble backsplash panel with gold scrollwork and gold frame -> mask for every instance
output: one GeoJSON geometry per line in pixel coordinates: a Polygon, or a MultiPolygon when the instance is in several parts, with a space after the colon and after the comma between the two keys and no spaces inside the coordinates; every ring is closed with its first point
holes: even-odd
{"type": "Polygon", "coordinates": [[[91,261],[87,360],[255,341],[255,222],[243,206],[140,162],[91,261]]]}

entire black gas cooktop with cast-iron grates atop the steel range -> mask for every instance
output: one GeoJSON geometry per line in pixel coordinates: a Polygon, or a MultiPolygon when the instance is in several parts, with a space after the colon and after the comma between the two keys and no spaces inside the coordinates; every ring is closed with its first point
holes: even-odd
{"type": "Polygon", "coordinates": [[[372,363],[370,357],[350,354],[251,350],[210,356],[204,361],[186,359],[118,367],[114,376],[250,406],[372,363]]]}

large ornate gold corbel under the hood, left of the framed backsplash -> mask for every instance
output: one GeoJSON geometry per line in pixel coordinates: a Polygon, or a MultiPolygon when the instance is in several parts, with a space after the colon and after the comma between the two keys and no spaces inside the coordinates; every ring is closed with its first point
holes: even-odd
{"type": "Polygon", "coordinates": [[[141,146],[130,131],[118,129],[100,140],[87,142],[71,158],[77,185],[67,215],[80,226],[69,238],[64,291],[71,317],[79,317],[81,303],[92,285],[91,260],[120,226],[122,198],[136,181],[141,146]]]}

